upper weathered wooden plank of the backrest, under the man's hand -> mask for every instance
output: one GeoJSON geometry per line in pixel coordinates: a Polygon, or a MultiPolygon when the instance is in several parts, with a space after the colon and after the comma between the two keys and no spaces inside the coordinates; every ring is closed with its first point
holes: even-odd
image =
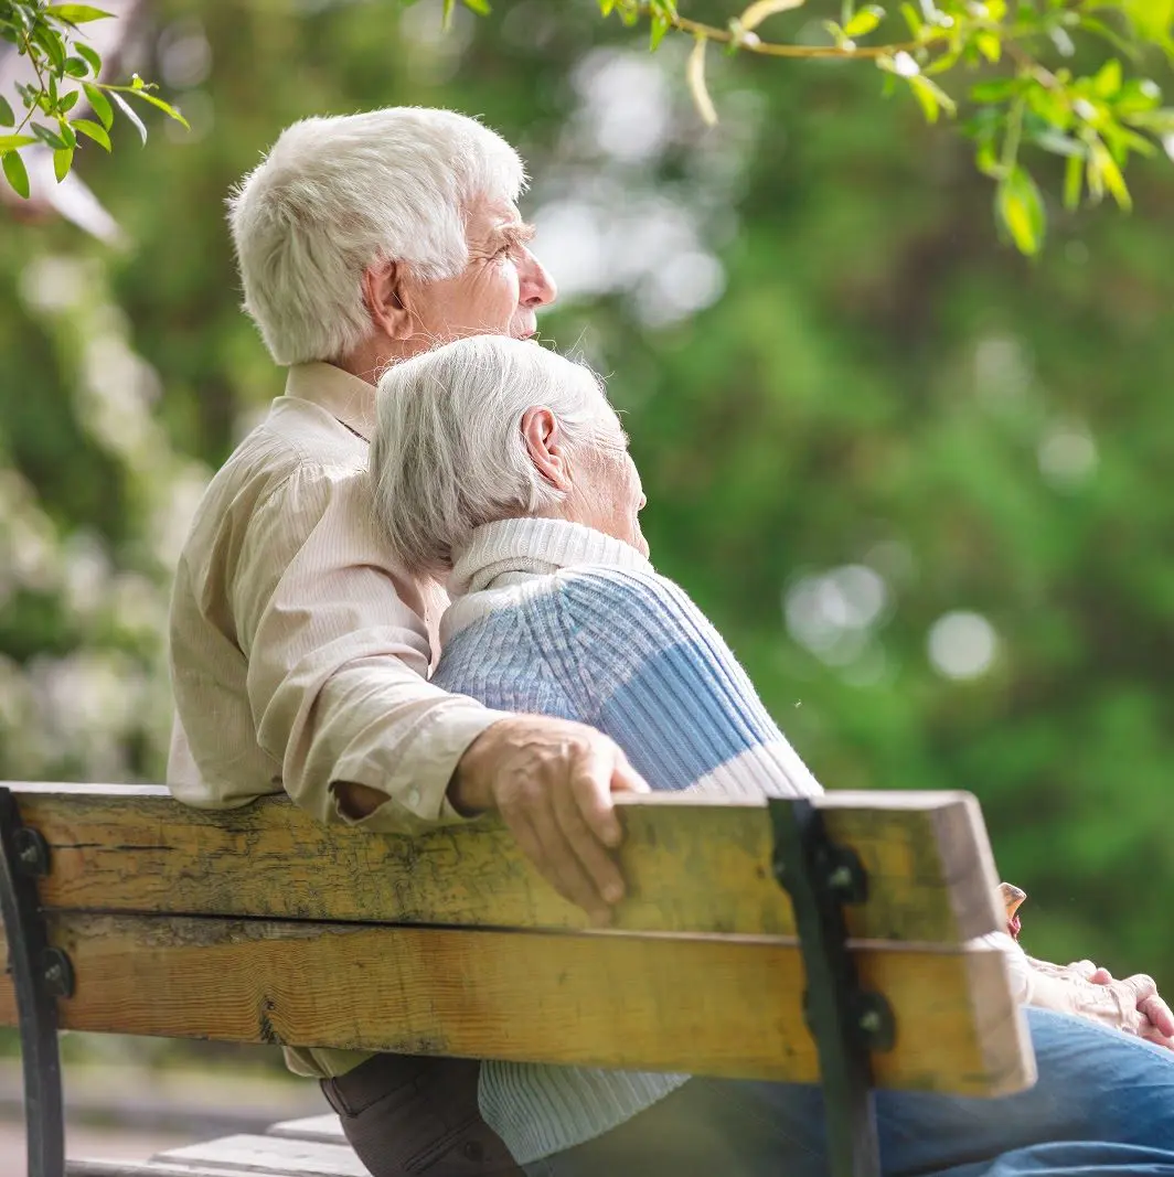
{"type": "MultiPolygon", "coordinates": [[[[316,920],[583,927],[496,818],[418,837],[323,826],[285,798],[204,812],[165,790],[14,785],[51,845],[49,907],[316,920]]],[[[829,793],[833,837],[869,871],[851,935],[956,944],[1001,929],[968,793],[829,793]]],[[[621,806],[630,897],[615,926],[788,936],[764,803],[658,794],[621,806]]]]}

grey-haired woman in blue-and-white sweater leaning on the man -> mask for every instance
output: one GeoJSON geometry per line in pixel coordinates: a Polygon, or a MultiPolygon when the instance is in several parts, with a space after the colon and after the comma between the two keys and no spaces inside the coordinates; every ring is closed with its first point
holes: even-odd
{"type": "MultiPolygon", "coordinates": [[[[820,790],[721,636],[652,571],[639,474],[588,368],[487,335],[402,363],[379,385],[371,473],[397,558],[447,578],[435,683],[590,724],[654,789],[820,790]]],[[[531,787],[518,774],[498,794],[506,818],[531,787]]],[[[578,804],[569,825],[590,817],[590,797],[578,804]]],[[[1169,1032],[1122,997],[1120,1025],[1169,1032]]],[[[886,1172],[1174,1175],[1166,1051],[1055,1012],[1029,1020],[1040,1082],[1026,1095],[881,1093],[886,1172]]],[[[814,1088],[486,1062],[480,1105],[536,1177],[823,1171],[814,1088]]]]}

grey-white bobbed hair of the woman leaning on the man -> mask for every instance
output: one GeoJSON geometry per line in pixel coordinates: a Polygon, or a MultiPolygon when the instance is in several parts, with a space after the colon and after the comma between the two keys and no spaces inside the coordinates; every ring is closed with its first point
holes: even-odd
{"type": "Polygon", "coordinates": [[[562,501],[522,434],[523,415],[538,406],[557,418],[572,460],[623,445],[599,378],[537,344],[471,335],[387,370],[371,478],[376,516],[407,571],[443,574],[475,527],[562,501]]]}

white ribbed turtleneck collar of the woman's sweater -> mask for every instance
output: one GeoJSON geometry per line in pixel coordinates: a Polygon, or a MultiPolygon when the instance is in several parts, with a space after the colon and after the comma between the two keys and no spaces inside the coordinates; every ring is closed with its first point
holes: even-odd
{"type": "Polygon", "coordinates": [[[449,593],[456,598],[482,592],[508,573],[550,576],[559,568],[584,564],[652,571],[652,565],[630,544],[582,524],[565,519],[503,519],[478,527],[457,553],[449,593]]]}

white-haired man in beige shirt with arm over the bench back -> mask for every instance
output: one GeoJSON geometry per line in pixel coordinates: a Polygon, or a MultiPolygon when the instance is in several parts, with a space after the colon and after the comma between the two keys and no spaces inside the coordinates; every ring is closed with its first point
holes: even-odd
{"type": "MultiPolygon", "coordinates": [[[[167,778],[201,807],[284,789],[323,822],[396,832],[498,807],[603,919],[623,890],[611,792],[643,782],[589,727],[427,683],[444,592],[389,560],[363,476],[376,373],[438,339],[528,338],[553,299],[523,181],[480,124],[386,109],[296,124],[233,195],[245,308],[288,377],[183,551],[167,778]]],[[[324,1080],[377,1177],[516,1171],[478,1117],[476,1063],[287,1058],[324,1080]]]]}

